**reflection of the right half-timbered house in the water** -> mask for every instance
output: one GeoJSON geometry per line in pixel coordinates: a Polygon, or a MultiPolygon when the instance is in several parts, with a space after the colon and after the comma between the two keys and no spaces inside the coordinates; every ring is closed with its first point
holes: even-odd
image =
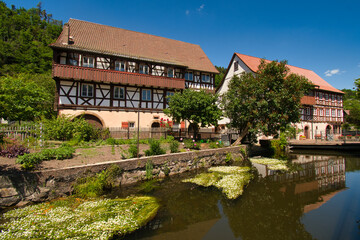
{"type": "Polygon", "coordinates": [[[280,191],[301,198],[304,212],[314,210],[345,188],[345,158],[342,156],[293,155],[292,163],[299,169],[278,174],[261,166],[260,174],[282,183],[280,191]]]}

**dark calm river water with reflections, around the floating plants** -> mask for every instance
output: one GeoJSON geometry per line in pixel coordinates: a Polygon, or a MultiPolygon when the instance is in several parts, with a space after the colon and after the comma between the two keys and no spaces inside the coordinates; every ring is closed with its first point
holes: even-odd
{"type": "MultiPolygon", "coordinates": [[[[302,168],[287,174],[259,169],[262,176],[236,200],[181,183],[195,173],[155,183],[146,194],[157,197],[161,209],[126,239],[360,239],[360,153],[301,151],[291,159],[302,168]]],[[[144,194],[140,188],[113,194],[144,194]]]]}

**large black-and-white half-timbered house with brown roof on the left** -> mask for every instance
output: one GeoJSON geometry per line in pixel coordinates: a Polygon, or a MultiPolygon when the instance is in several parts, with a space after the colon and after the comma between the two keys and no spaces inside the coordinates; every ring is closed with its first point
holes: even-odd
{"type": "Polygon", "coordinates": [[[218,73],[199,45],[70,19],[53,49],[59,114],[102,127],[158,126],[167,96],[214,91],[218,73]]]}

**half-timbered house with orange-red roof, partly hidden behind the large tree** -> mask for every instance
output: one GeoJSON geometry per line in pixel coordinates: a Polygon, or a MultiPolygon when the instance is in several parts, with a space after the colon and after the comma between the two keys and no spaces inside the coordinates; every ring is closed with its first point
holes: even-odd
{"type": "MultiPolygon", "coordinates": [[[[220,94],[228,90],[228,84],[234,75],[242,72],[256,73],[261,59],[244,54],[234,53],[227,73],[221,82],[217,92],[220,94]]],[[[265,60],[268,61],[268,60],[265,60]]],[[[268,61],[269,62],[269,61],[268,61]]],[[[343,92],[331,86],[328,82],[318,76],[315,72],[287,65],[290,72],[306,77],[315,85],[301,99],[301,121],[296,123],[298,131],[297,138],[333,138],[340,134],[343,123],[343,92]]],[[[229,119],[223,119],[219,124],[226,124],[229,119]]]]}

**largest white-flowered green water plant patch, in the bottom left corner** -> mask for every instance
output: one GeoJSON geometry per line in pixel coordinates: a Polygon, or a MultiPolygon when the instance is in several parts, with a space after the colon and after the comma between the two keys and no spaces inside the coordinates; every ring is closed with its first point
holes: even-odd
{"type": "Polygon", "coordinates": [[[144,226],[159,206],[154,197],[60,199],[5,213],[0,239],[112,239],[144,226]]]}

